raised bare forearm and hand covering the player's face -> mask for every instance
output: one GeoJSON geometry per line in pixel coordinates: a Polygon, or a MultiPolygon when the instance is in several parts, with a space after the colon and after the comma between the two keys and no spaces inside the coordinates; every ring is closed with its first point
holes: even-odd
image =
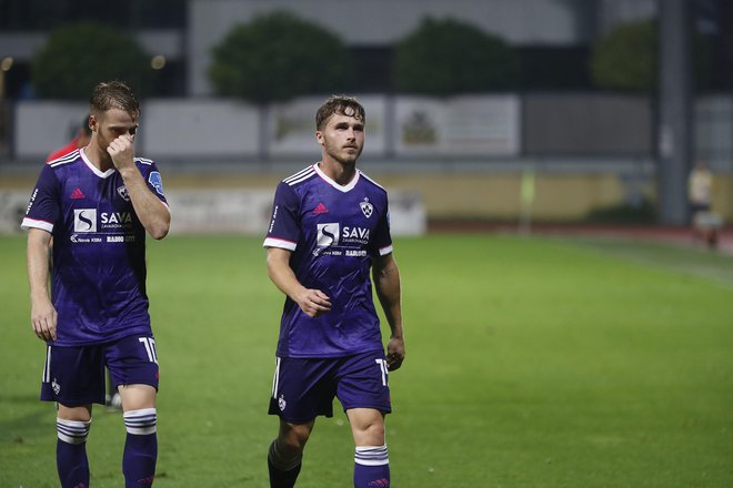
{"type": "Polygon", "coordinates": [[[171,225],[168,207],[152,194],[134,164],[133,136],[122,134],[110,142],[107,152],[120,172],[130,193],[138,218],[145,231],[157,240],[165,237],[171,225]]]}

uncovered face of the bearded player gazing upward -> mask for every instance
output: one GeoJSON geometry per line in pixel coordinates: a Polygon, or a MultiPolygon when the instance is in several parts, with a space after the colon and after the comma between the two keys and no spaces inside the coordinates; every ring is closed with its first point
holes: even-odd
{"type": "Polygon", "coordinates": [[[364,122],[350,115],[334,114],[315,138],[323,148],[323,157],[341,164],[354,164],[364,149],[364,122]]]}

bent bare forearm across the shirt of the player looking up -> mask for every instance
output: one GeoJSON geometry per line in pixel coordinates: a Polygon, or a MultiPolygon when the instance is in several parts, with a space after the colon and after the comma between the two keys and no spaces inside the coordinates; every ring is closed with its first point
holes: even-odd
{"type": "Polygon", "coordinates": [[[268,248],[268,275],[278,289],[295,302],[309,317],[331,312],[331,299],[320,289],[304,287],[290,267],[291,252],[279,247],[268,248]]]}

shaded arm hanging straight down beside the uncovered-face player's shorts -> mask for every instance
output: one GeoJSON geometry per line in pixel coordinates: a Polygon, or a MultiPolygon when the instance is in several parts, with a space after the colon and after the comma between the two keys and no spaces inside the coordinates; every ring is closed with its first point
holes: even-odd
{"type": "Polygon", "coordinates": [[[391,253],[373,261],[372,275],[376,296],[392,332],[386,345],[386,366],[390,370],[399,369],[405,354],[402,332],[402,297],[400,270],[391,253]]]}

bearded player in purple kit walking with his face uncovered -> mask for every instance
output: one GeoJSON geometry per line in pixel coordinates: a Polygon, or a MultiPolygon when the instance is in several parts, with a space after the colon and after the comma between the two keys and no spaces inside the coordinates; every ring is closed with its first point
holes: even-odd
{"type": "Polygon", "coordinates": [[[354,487],[389,487],[384,416],[388,370],[404,359],[400,274],[392,256],[388,195],[357,169],[365,114],[352,98],[331,96],[315,114],[322,159],[283,180],[264,240],[268,274],[287,295],[280,323],[271,415],[270,486],[292,487],[315,417],[347,413],[355,444],[354,487]],[[391,329],[386,355],[372,301],[391,329]]]}

